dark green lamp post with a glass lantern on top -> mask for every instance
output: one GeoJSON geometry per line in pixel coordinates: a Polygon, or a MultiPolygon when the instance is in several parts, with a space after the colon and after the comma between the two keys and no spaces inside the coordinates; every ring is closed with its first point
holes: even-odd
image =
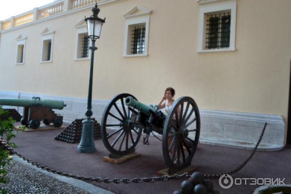
{"type": "Polygon", "coordinates": [[[91,50],[91,65],[90,65],[90,78],[89,78],[89,90],[88,90],[88,100],[87,100],[87,111],[85,113],[87,119],[83,120],[83,129],[81,142],[78,146],[78,152],[94,152],[96,146],[94,144],[94,131],[93,125],[94,121],[91,119],[92,112],[92,85],[93,85],[93,66],[94,66],[94,51],[97,50],[95,47],[95,41],[100,37],[101,28],[103,23],[105,23],[105,18],[101,19],[98,17],[100,9],[97,7],[92,8],[93,15],[85,18],[88,28],[88,36],[91,39],[92,46],[89,47],[91,50]]]}

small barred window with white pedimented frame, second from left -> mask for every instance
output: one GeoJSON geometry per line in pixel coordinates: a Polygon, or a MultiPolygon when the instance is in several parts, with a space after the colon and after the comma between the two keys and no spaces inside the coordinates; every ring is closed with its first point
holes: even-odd
{"type": "Polygon", "coordinates": [[[53,34],[54,31],[50,28],[46,28],[42,34],[42,52],[41,63],[52,62],[52,46],[53,46],[53,34]]]}

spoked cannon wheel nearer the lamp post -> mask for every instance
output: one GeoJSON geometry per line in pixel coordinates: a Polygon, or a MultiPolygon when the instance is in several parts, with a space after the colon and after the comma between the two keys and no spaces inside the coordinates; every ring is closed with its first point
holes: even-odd
{"type": "Polygon", "coordinates": [[[138,111],[129,109],[124,103],[129,96],[136,99],[126,93],[113,97],[102,115],[102,141],[108,151],[117,156],[133,152],[142,134],[142,129],[136,123],[138,111]]]}

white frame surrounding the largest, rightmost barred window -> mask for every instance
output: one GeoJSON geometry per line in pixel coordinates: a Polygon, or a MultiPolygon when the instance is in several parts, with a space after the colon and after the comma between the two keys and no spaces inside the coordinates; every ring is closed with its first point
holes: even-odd
{"type": "Polygon", "coordinates": [[[236,32],[236,0],[198,0],[199,4],[199,26],[198,26],[198,45],[197,52],[217,52],[235,50],[236,32]],[[229,48],[224,49],[205,49],[206,44],[206,20],[209,14],[230,12],[230,37],[229,48]]]}

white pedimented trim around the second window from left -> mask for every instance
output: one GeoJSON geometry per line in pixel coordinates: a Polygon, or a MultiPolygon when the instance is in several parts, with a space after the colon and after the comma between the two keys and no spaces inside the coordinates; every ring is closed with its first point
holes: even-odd
{"type": "Polygon", "coordinates": [[[55,31],[52,30],[51,28],[45,28],[40,34],[42,35],[42,46],[41,46],[41,58],[40,58],[40,63],[51,63],[52,62],[52,51],[53,51],[53,36],[54,36],[55,31]],[[51,40],[51,46],[50,46],[50,58],[48,61],[44,60],[45,58],[45,45],[44,42],[51,40]]]}

